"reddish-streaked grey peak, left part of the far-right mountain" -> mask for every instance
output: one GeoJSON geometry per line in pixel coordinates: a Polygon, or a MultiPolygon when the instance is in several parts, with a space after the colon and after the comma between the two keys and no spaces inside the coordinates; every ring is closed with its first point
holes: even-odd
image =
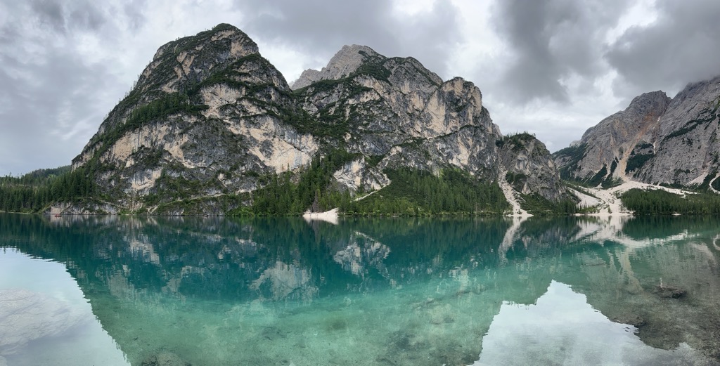
{"type": "Polygon", "coordinates": [[[668,104],[670,98],[662,91],[644,93],[624,111],[590,127],[579,142],[554,154],[562,175],[580,180],[596,176],[596,180],[604,180],[625,177],[626,171],[634,173],[636,155],[647,153],[648,148],[652,150],[658,118],[668,104]]]}

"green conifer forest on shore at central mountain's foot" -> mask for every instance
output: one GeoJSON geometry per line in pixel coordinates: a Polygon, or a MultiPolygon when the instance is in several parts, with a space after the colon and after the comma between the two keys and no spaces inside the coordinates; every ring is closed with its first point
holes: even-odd
{"type": "Polygon", "coordinates": [[[351,193],[332,179],[333,173],[354,157],[335,150],[325,159],[312,160],[298,175],[269,175],[266,186],[253,192],[251,209],[241,214],[296,216],[308,209],[338,208],[351,215],[486,215],[502,214],[510,208],[497,183],[482,183],[459,169],[442,170],[437,176],[426,170],[388,169],[384,173],[390,185],[358,199],[366,193],[364,188],[351,193]]]}

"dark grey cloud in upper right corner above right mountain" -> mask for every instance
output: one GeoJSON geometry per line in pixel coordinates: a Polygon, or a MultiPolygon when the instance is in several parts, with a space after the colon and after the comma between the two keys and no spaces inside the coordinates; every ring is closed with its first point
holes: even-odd
{"type": "Polygon", "coordinates": [[[657,20],[631,27],[606,59],[622,76],[616,93],[626,98],[720,75],[720,2],[658,0],[657,20]]]}

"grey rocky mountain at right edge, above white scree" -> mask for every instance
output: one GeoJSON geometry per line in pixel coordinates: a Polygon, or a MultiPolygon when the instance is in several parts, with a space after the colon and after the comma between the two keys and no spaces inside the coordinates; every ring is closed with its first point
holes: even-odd
{"type": "Polygon", "coordinates": [[[720,77],[690,83],[673,99],[637,96],[628,108],[554,153],[563,178],[708,186],[719,168],[720,77]]]}

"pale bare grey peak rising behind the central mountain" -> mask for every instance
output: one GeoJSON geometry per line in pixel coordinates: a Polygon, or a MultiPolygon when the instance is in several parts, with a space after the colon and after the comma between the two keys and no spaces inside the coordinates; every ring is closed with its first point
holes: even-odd
{"type": "Polygon", "coordinates": [[[300,78],[297,78],[291,87],[300,89],[315,83],[315,81],[344,78],[354,73],[366,60],[372,58],[384,57],[367,46],[344,45],[322,70],[307,69],[303,71],[300,78]]]}

